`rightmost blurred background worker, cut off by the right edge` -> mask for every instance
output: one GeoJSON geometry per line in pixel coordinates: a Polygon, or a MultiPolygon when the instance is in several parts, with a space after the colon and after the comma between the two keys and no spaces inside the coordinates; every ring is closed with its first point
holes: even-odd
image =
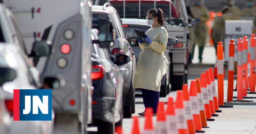
{"type": "Polygon", "coordinates": [[[241,11],[241,17],[254,17],[254,26],[256,26],[256,7],[254,0],[246,0],[246,8],[241,11]]]}

